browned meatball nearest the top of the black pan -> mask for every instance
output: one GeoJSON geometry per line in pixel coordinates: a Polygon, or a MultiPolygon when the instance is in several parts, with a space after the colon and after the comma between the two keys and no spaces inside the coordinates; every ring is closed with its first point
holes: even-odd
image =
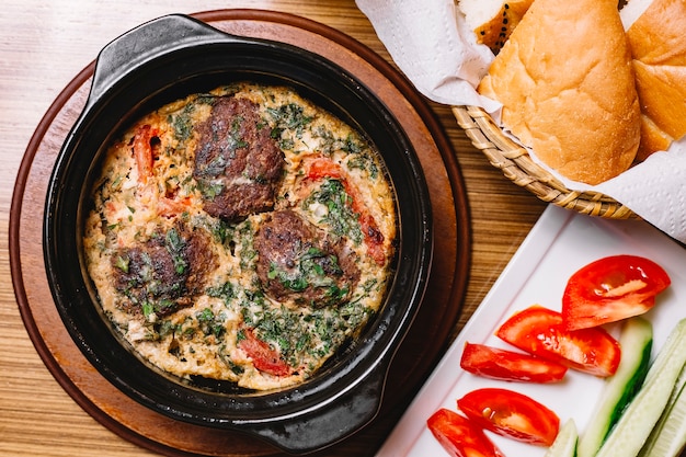
{"type": "Polygon", "coordinates": [[[239,220],[274,207],[284,153],[247,99],[219,96],[198,126],[193,175],[210,216],[239,220]]]}

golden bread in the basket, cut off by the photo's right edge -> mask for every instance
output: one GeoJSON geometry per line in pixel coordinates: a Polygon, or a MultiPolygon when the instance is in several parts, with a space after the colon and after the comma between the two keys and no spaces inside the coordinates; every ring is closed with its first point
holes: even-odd
{"type": "Polygon", "coordinates": [[[686,3],[632,0],[626,9],[644,133],[637,160],[644,160],[686,135],[686,3]],[[637,8],[642,12],[628,16],[637,8]]]}

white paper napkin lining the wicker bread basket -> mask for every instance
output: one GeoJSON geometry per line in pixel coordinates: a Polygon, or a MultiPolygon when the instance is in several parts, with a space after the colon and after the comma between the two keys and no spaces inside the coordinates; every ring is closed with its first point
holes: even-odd
{"type": "MultiPolygon", "coordinates": [[[[415,88],[434,102],[477,105],[500,119],[500,105],[475,90],[493,59],[476,43],[454,0],[356,0],[379,39],[415,88]]],[[[535,153],[531,153],[535,160],[535,153]]],[[[554,173],[554,171],[551,171],[554,173]]],[[[568,188],[593,190],[676,240],[686,242],[686,140],[597,186],[554,173],[568,188]]]]}

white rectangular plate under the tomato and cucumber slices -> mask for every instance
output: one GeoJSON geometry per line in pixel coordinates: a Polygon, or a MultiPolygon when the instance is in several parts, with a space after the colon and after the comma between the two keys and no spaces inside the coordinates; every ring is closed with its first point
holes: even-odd
{"type": "MultiPolygon", "coordinates": [[[[503,387],[528,395],[553,410],[564,423],[574,419],[583,432],[601,395],[603,380],[569,370],[560,384],[535,385],[481,378],[459,366],[466,342],[507,347],[493,335],[513,312],[539,304],[560,310],[569,277],[587,263],[615,254],[642,255],[665,269],[672,285],[645,317],[653,323],[653,357],[674,324],[686,317],[686,250],[639,220],[609,220],[548,207],[492,289],[450,345],[410,404],[377,457],[447,456],[426,429],[439,408],[457,411],[456,401],[482,387],[503,387]]],[[[618,324],[608,327],[617,335],[618,324]]],[[[487,432],[506,456],[542,457],[531,446],[487,432]]]]}

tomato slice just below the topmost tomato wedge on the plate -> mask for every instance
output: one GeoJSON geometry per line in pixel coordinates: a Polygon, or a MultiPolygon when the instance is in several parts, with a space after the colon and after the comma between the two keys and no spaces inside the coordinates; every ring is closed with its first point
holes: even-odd
{"type": "Polygon", "coordinates": [[[562,315],[539,305],[514,313],[498,338],[522,351],[599,377],[617,372],[619,343],[599,327],[568,330],[562,315]]]}

